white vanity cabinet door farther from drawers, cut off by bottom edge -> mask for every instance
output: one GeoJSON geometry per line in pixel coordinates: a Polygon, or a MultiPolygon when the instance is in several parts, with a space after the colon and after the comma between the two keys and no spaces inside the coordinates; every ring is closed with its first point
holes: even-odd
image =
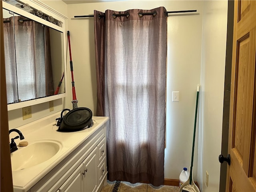
{"type": "Polygon", "coordinates": [[[82,182],[81,176],[83,164],[81,164],[76,171],[66,180],[66,182],[59,188],[60,192],[82,192],[84,191],[84,183],[82,182]]]}

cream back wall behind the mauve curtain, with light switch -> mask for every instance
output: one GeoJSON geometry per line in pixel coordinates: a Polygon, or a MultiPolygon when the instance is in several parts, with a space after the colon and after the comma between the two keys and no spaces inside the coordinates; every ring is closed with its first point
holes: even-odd
{"type": "MultiPolygon", "coordinates": [[[[96,112],[96,69],[94,56],[94,19],[74,19],[93,14],[94,9],[124,11],[164,6],[167,11],[198,10],[196,14],[169,14],[167,58],[167,114],[165,178],[179,179],[183,167],[190,166],[196,86],[200,84],[203,1],[123,1],[68,5],[68,30],[78,106],[96,112]],[[171,102],[172,91],[180,91],[180,102],[171,102]]],[[[197,142],[196,142],[197,149],[197,142]]],[[[197,178],[197,150],[194,176],[197,178]]],[[[196,180],[196,179],[195,179],[196,180]]]]}

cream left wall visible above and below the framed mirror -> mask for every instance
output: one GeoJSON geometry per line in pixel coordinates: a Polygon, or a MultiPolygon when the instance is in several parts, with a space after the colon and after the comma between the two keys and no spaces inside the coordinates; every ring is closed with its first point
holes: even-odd
{"type": "MultiPolygon", "coordinates": [[[[61,0],[54,0],[54,1],[41,0],[41,2],[50,6],[54,10],[60,12],[61,14],[65,15],[65,16],[67,15],[67,7],[68,6],[63,1],[61,1],[61,0]]],[[[66,24],[66,29],[67,28],[68,28],[68,26],[66,24]]],[[[66,88],[66,90],[67,90],[67,88],[66,88]]],[[[54,100],[54,111],[52,111],[52,112],[50,112],[50,110],[49,110],[48,102],[34,105],[34,106],[32,106],[32,118],[29,118],[26,120],[22,119],[22,109],[8,111],[9,130],[12,128],[17,128],[18,126],[22,126],[29,122],[38,120],[38,119],[48,116],[50,114],[62,111],[62,109],[64,109],[65,107],[71,108],[71,105],[72,105],[71,100],[70,100],[69,105],[68,105],[68,103],[65,105],[66,100],[68,100],[68,99],[65,98],[65,99],[54,100]]]]}

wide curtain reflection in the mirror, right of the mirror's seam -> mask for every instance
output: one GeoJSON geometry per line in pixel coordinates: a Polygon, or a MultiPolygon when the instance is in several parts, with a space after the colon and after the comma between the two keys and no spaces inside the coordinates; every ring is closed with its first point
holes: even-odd
{"type": "MultiPolygon", "coordinates": [[[[46,27],[20,19],[23,18],[14,17],[18,99],[24,101],[53,95],[52,67],[50,59],[46,59],[46,52],[50,53],[46,27]],[[49,71],[50,74],[47,73],[49,71]],[[50,89],[46,82],[51,85],[50,89]]],[[[10,65],[15,63],[11,62],[10,65]]]]}

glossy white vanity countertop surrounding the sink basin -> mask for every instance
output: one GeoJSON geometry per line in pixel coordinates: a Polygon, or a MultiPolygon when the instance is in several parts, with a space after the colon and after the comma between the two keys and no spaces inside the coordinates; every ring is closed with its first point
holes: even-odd
{"type": "MultiPolygon", "coordinates": [[[[88,129],[77,132],[58,132],[55,119],[59,117],[60,112],[17,128],[25,137],[22,141],[28,141],[28,145],[35,141],[53,140],[61,144],[61,149],[55,156],[41,164],[23,170],[12,171],[14,191],[28,191],[108,120],[108,117],[93,116],[94,124],[88,129]]],[[[10,138],[17,135],[16,132],[12,132],[10,138]]],[[[18,145],[20,140],[17,139],[15,142],[18,145]]]]}

